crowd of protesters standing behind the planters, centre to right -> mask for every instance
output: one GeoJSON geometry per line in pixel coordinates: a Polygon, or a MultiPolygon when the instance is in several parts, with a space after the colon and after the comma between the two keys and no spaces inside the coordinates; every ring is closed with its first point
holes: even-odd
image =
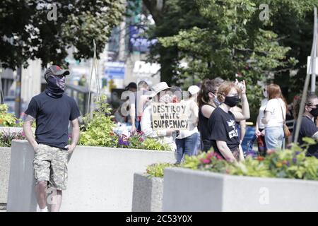
{"type": "MultiPolygon", "coordinates": [[[[246,120],[250,117],[245,81],[230,82],[219,77],[205,79],[199,86],[189,86],[185,91],[187,95],[184,95],[181,88],[169,87],[165,82],[151,87],[146,81],[141,81],[138,85],[129,83],[126,90],[133,93],[126,101],[126,106],[129,106],[131,131],[142,131],[146,137],[157,138],[158,141],[170,145],[176,152],[177,163],[182,162],[184,155],[196,155],[199,151],[208,150],[214,150],[230,162],[244,160],[246,153],[243,152],[241,144],[247,131],[246,120]],[[189,116],[187,130],[153,129],[152,102],[186,105],[189,116]]],[[[287,105],[281,88],[276,84],[263,85],[262,92],[264,99],[259,104],[251,143],[257,141],[257,154],[264,156],[266,150],[285,148],[287,137],[284,126],[287,125],[290,131],[295,131],[295,114],[292,114],[292,107],[299,111],[300,98],[293,105],[287,105]]],[[[119,107],[119,110],[120,108],[122,107],[119,107]]],[[[318,98],[309,95],[298,137],[300,145],[303,137],[318,138],[318,127],[313,121],[317,116],[318,98]]],[[[287,144],[291,141],[293,136],[288,137],[287,144]]],[[[307,155],[318,157],[317,150],[318,145],[312,145],[307,155]]]]}

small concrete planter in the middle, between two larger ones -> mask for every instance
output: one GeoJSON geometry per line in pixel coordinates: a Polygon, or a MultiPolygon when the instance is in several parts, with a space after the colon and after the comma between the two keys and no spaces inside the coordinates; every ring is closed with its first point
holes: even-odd
{"type": "Polygon", "coordinates": [[[134,174],[132,212],[160,212],[163,210],[163,178],[148,178],[134,174]]]}

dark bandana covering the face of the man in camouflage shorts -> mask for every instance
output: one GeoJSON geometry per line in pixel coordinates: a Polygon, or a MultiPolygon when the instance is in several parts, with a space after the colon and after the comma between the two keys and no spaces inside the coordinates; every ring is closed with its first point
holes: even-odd
{"type": "Polygon", "coordinates": [[[49,76],[45,93],[50,97],[61,97],[65,90],[65,76],[49,76]]]}

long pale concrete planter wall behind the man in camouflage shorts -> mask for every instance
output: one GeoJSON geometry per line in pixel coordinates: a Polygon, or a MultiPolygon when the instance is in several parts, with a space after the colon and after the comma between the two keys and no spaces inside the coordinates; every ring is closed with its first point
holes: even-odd
{"type": "MultiPolygon", "coordinates": [[[[8,211],[35,211],[33,155],[27,141],[13,141],[8,211]]],[[[131,211],[134,173],[155,162],[174,163],[175,153],[78,146],[61,211],[131,211]]]]}

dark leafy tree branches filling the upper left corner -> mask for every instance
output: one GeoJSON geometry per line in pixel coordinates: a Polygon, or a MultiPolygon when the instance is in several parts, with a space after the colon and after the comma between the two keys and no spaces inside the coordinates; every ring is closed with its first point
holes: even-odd
{"type": "Polygon", "coordinates": [[[124,0],[54,2],[0,1],[0,61],[4,68],[28,66],[27,60],[35,58],[43,66],[51,61],[65,64],[66,49],[71,46],[77,50],[75,59],[93,57],[93,39],[97,52],[102,52],[125,8],[124,0]],[[57,18],[48,16],[55,9],[57,18]]]}

